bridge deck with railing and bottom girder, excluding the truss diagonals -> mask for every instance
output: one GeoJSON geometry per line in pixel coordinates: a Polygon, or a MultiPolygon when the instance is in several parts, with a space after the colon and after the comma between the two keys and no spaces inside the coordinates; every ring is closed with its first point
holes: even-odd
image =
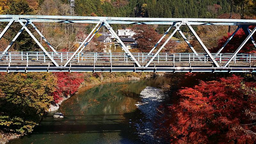
{"type": "MultiPolygon", "coordinates": [[[[84,72],[256,72],[256,54],[239,53],[230,62],[229,67],[217,68],[206,53],[158,53],[148,67],[144,67],[154,53],[132,53],[142,67],[137,67],[128,53],[82,52],[76,54],[67,67],[63,65],[74,52],[49,52],[60,65],[54,66],[44,52],[7,52],[0,55],[1,72],[36,71],[84,71],[84,72]],[[254,71],[255,69],[255,71],[254,71]]],[[[212,53],[220,66],[232,56],[232,53],[212,53]]]]}

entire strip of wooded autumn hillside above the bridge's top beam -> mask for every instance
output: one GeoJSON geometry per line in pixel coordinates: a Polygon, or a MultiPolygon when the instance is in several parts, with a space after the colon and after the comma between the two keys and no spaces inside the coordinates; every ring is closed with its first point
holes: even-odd
{"type": "MultiPolygon", "coordinates": [[[[8,14],[7,10],[15,1],[0,0],[0,14],[8,14]]],[[[45,6],[53,7],[50,11],[57,12],[63,8],[66,11],[52,15],[69,14],[68,0],[20,1],[27,1],[34,14],[41,13],[45,6]]],[[[75,13],[79,16],[216,18],[229,13],[230,9],[234,13],[253,13],[252,5],[255,6],[253,0],[76,0],[75,13]]]]}

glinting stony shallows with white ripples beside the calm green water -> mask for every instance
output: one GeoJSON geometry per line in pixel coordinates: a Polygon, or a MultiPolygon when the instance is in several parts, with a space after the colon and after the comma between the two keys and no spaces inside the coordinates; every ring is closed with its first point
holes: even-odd
{"type": "Polygon", "coordinates": [[[140,92],[141,102],[135,104],[137,108],[145,115],[145,119],[135,123],[137,134],[142,142],[145,143],[165,143],[164,140],[155,136],[154,118],[157,114],[157,108],[163,101],[163,90],[155,87],[146,87],[140,92]]]}

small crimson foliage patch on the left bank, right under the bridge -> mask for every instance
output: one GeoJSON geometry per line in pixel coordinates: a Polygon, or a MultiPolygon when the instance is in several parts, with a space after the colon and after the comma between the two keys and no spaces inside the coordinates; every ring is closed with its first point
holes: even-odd
{"type": "Polygon", "coordinates": [[[57,88],[52,94],[55,103],[58,103],[63,96],[74,94],[84,81],[82,73],[56,72],[54,75],[57,77],[57,88]]]}

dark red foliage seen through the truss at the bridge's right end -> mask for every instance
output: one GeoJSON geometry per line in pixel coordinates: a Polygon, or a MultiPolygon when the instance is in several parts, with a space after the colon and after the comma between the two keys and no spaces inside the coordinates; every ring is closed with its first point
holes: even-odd
{"type": "MultiPolygon", "coordinates": [[[[253,29],[255,27],[250,26],[250,29],[253,29]]],[[[213,52],[218,52],[218,50],[226,43],[228,38],[233,34],[228,33],[228,36],[223,36],[221,39],[218,41],[218,46],[213,49],[213,52]]],[[[222,53],[233,53],[236,51],[236,49],[244,42],[246,39],[247,35],[245,35],[244,30],[240,28],[235,36],[229,41],[229,43],[226,45],[226,47],[221,51],[222,53]]],[[[255,39],[256,36],[253,35],[253,38],[255,39]]],[[[239,51],[239,53],[253,53],[255,52],[255,46],[252,44],[252,40],[249,39],[249,41],[244,45],[244,47],[239,51]]]]}

